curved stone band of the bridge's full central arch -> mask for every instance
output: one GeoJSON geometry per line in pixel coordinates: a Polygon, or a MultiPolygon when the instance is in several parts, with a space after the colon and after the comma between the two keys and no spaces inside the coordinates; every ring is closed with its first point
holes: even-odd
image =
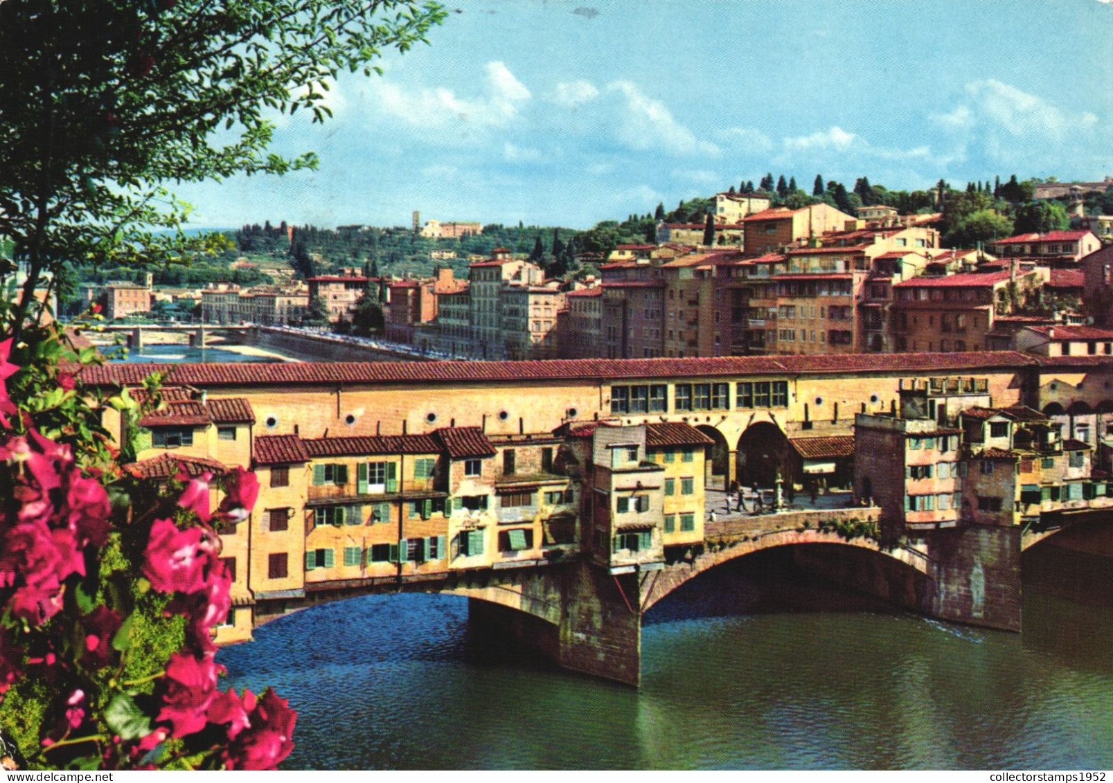
{"type": "Polygon", "coordinates": [[[928,555],[910,546],[883,549],[880,544],[870,538],[853,538],[847,541],[839,537],[836,533],[816,529],[776,531],[755,536],[747,541],[739,541],[718,549],[709,549],[690,562],[674,563],[663,571],[642,575],[641,611],[647,612],[672,591],[723,563],[754,554],[755,552],[799,545],[809,545],[809,548],[818,548],[820,546],[853,547],[859,552],[874,552],[877,557],[886,558],[889,563],[897,565],[906,573],[915,572],[913,579],[917,584],[917,593],[925,587],[933,571],[933,563],[928,555]]]}

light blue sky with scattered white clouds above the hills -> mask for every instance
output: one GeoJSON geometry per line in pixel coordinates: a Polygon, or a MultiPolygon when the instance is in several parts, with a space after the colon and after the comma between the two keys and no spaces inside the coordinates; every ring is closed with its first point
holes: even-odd
{"type": "Polygon", "coordinates": [[[430,46],[276,117],[285,177],[179,186],[199,227],[590,228],[817,174],[1113,175],[1113,0],[445,0],[430,46]]]}

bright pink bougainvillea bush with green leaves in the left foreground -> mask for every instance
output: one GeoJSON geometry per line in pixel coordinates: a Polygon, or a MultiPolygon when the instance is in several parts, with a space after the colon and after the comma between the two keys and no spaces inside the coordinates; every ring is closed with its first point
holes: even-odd
{"type": "Polygon", "coordinates": [[[14,698],[24,763],[274,769],[296,714],[269,690],[221,692],[213,642],[232,605],[213,524],[248,518],[255,475],[230,470],[215,512],[210,475],[140,486],[95,415],[135,406],[127,394],[90,407],[58,351],[23,377],[11,350],[0,343],[0,717],[14,698]],[[27,395],[51,369],[53,405],[9,396],[13,376],[27,395]]]}

